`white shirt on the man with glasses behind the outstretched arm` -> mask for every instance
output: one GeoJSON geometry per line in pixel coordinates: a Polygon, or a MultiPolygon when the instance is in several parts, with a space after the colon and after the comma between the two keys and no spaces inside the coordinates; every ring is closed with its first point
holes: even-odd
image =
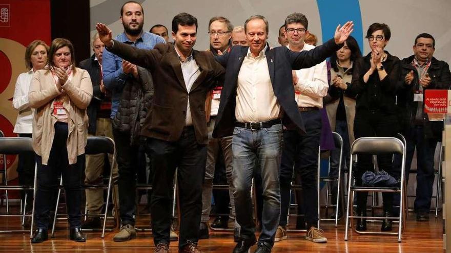
{"type": "MultiPolygon", "coordinates": [[[[290,49],[290,46],[287,45],[290,49]]],[[[314,49],[314,45],[304,43],[301,51],[314,49]]],[[[327,83],[327,66],[323,61],[313,67],[297,70],[296,76],[299,78],[294,86],[296,92],[296,103],[298,107],[318,107],[322,108],[322,98],[327,95],[329,84],[327,83]]]]}

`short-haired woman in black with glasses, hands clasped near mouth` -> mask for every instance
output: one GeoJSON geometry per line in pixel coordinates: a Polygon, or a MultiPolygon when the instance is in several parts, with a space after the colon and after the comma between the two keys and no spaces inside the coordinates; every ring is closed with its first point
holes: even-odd
{"type": "MultiPolygon", "coordinates": [[[[346,94],[356,96],[354,120],[355,139],[366,136],[392,137],[398,132],[396,110],[396,91],[399,72],[399,58],[384,51],[391,32],[387,25],[374,23],[366,33],[371,52],[356,60],[353,66],[351,84],[346,94]]],[[[374,171],[371,154],[357,155],[356,185],[362,185],[365,171],[374,171]]],[[[379,170],[393,175],[392,155],[378,155],[379,170]]],[[[357,192],[357,213],[366,216],[366,197],[368,192],[357,192]]],[[[393,193],[382,193],[385,217],[393,214],[393,193]]],[[[366,220],[357,221],[357,230],[366,230],[366,220]]],[[[384,219],[381,231],[391,231],[392,220],[384,219]]]]}

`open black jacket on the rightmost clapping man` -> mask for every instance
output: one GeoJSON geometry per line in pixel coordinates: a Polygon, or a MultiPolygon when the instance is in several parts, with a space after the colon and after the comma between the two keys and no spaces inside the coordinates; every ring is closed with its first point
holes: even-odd
{"type": "MultiPolygon", "coordinates": [[[[414,93],[419,89],[418,72],[415,66],[412,65],[414,55],[401,60],[401,69],[399,75],[399,91],[398,91],[398,114],[401,128],[405,132],[409,127],[413,126],[415,120],[415,113],[417,111],[418,103],[414,102],[414,93]],[[405,84],[405,76],[413,71],[414,80],[410,85],[405,84]]],[[[431,81],[424,89],[449,89],[451,84],[451,73],[449,72],[449,65],[444,61],[439,61],[432,58],[430,66],[427,70],[431,81]]],[[[424,101],[423,105],[424,107],[424,101]]],[[[423,112],[422,123],[424,126],[424,133],[426,139],[441,139],[443,121],[429,121],[427,114],[423,112]]]]}

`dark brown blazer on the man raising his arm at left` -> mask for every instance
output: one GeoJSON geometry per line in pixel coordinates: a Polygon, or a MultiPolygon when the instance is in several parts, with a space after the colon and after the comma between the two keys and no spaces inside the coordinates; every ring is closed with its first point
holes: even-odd
{"type": "MultiPolygon", "coordinates": [[[[144,50],[114,40],[113,47],[107,50],[152,73],[154,97],[141,135],[168,142],[179,140],[185,126],[188,91],[174,44],[157,44],[152,50],[144,50]]],[[[193,58],[200,68],[200,75],[189,92],[191,117],[197,143],[206,145],[205,98],[225,71],[210,52],[193,50],[193,58]]]]}

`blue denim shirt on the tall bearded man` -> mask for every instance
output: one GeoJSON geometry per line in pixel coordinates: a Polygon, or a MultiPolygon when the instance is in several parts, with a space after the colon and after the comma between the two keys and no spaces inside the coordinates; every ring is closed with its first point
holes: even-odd
{"type": "MultiPolygon", "coordinates": [[[[165,39],[153,33],[143,32],[135,42],[130,41],[125,33],[118,34],[115,40],[124,42],[138,49],[153,49],[158,43],[166,43],[165,39]]],[[[133,78],[132,74],[125,74],[122,71],[122,58],[104,50],[103,60],[103,79],[105,87],[111,90],[111,118],[113,118],[119,109],[120,96],[125,82],[133,78]]]]}

